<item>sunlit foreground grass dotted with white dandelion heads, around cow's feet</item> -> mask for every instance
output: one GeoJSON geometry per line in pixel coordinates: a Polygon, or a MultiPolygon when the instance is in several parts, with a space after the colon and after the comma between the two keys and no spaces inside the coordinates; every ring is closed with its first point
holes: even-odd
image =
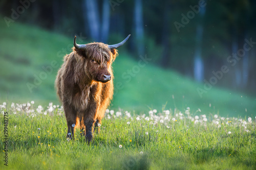
{"type": "MultiPolygon", "coordinates": [[[[66,139],[66,118],[60,107],[29,105],[0,106],[1,111],[8,111],[8,125],[1,121],[0,142],[1,155],[8,153],[9,169],[256,167],[254,117],[206,116],[189,108],[181,112],[163,108],[145,115],[107,110],[100,133],[88,145],[79,130],[74,140],[66,139]],[[4,127],[9,138],[6,152],[4,127]]],[[[4,120],[4,115],[0,118],[4,120]]],[[[0,169],[5,168],[2,161],[0,169]]]]}

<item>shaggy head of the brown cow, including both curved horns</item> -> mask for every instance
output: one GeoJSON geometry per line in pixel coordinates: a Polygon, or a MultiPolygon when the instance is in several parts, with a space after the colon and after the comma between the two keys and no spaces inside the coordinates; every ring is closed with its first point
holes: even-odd
{"type": "Polygon", "coordinates": [[[106,83],[111,80],[111,65],[117,56],[116,48],[123,45],[129,37],[130,35],[122,42],[114,45],[107,45],[101,42],[79,45],[76,43],[75,36],[73,50],[85,59],[84,71],[87,76],[94,81],[106,83]]]}

